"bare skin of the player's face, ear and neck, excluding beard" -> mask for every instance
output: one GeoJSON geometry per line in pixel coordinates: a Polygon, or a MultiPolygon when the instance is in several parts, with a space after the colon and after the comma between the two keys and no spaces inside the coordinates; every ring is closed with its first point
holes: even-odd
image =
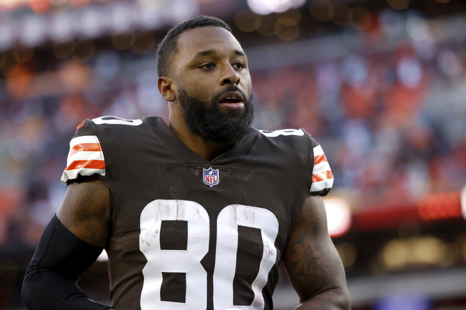
{"type": "MultiPolygon", "coordinates": [[[[200,27],[180,34],[178,52],[170,65],[170,77],[160,77],[157,86],[168,102],[171,130],[191,150],[208,160],[222,154],[226,148],[188,130],[178,92],[183,88],[191,96],[210,103],[215,93],[231,85],[250,96],[248,59],[233,35],[220,27],[200,27]]],[[[220,109],[227,108],[220,105],[220,109]]]]}

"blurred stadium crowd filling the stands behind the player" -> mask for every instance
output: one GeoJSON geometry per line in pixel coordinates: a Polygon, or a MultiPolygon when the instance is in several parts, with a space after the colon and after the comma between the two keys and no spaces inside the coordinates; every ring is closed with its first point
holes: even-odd
{"type": "MultiPolygon", "coordinates": [[[[358,209],[403,206],[466,184],[466,37],[426,34],[448,17],[429,26],[416,18],[411,32],[359,32],[363,46],[343,57],[274,59],[256,69],[250,60],[254,126],[305,128],[326,152],[335,190],[360,197],[358,209]]],[[[91,41],[75,50],[32,60],[27,51],[0,54],[0,252],[37,244],[66,191],[68,142],[83,119],[168,120],[154,50],[139,55],[91,41]]]]}

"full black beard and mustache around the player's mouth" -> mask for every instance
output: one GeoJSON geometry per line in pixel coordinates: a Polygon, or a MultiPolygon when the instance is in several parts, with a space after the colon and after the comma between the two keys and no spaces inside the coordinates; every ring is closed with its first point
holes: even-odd
{"type": "Polygon", "coordinates": [[[179,101],[183,109],[183,119],[189,131],[199,135],[207,141],[233,146],[252,131],[254,120],[254,107],[252,94],[248,98],[242,93],[245,109],[220,110],[218,99],[221,95],[230,91],[239,91],[236,87],[230,87],[224,92],[213,97],[212,101],[205,102],[188,95],[180,90],[179,101]]]}

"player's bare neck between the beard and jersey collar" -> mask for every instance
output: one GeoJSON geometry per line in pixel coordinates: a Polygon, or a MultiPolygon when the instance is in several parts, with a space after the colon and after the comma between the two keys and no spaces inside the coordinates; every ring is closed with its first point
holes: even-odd
{"type": "Polygon", "coordinates": [[[184,123],[183,117],[173,117],[170,114],[168,122],[171,131],[202,158],[210,161],[229,149],[225,144],[204,140],[199,135],[192,133],[184,123]]]}

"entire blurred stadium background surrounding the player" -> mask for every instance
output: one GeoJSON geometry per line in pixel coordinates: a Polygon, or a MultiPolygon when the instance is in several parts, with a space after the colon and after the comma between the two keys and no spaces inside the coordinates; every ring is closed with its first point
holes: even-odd
{"type": "MultiPolygon", "coordinates": [[[[200,14],[248,54],[254,126],[305,128],[325,150],[353,309],[466,309],[464,0],[0,0],[0,309],[25,309],[76,126],[167,120],[156,45],[200,14]]],[[[79,284],[109,302],[104,256],[79,284]]],[[[274,297],[298,304],[283,270],[274,297]]]]}

